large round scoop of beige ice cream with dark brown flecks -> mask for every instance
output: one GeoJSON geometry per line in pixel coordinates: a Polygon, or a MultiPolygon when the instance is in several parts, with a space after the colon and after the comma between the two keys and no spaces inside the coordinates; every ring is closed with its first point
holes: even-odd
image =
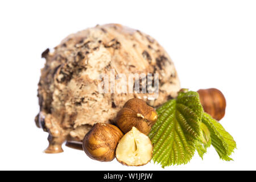
{"type": "MultiPolygon", "coordinates": [[[[47,153],[61,144],[80,147],[94,123],[114,123],[130,98],[157,107],[176,97],[180,82],[174,63],[155,39],[120,24],[105,24],[71,34],[54,51],[42,53],[46,64],[38,84],[36,125],[49,133],[47,153]],[[101,74],[158,73],[159,96],[148,93],[100,93],[101,74]]],[[[115,83],[118,85],[118,78],[115,83]]]]}

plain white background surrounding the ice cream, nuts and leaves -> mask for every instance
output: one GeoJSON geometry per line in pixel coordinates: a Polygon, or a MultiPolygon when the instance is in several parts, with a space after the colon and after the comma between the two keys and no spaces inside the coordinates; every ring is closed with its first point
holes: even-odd
{"type": "Polygon", "coordinates": [[[184,166],[164,170],[256,169],[255,1],[1,1],[0,169],[162,170],[155,164],[101,163],[63,146],[44,154],[37,84],[46,48],[96,24],[120,23],[154,37],[170,54],[181,86],[218,88],[227,100],[221,124],[237,142],[233,162],[210,148],[184,166]]]}

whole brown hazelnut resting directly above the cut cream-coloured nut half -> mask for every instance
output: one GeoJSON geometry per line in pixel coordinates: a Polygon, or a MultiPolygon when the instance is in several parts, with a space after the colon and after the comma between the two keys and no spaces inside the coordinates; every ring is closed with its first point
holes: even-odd
{"type": "Polygon", "coordinates": [[[136,127],[147,135],[157,118],[158,114],[153,107],[148,106],[145,101],[139,98],[132,98],[118,112],[117,125],[123,133],[127,133],[133,127],[136,127]]]}

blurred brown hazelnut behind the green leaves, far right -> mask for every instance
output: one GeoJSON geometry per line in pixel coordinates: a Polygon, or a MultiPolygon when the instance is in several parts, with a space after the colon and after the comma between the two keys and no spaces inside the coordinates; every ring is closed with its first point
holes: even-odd
{"type": "Polygon", "coordinates": [[[215,88],[200,89],[197,92],[204,111],[220,121],[224,117],[226,109],[226,100],[222,92],[215,88]]]}

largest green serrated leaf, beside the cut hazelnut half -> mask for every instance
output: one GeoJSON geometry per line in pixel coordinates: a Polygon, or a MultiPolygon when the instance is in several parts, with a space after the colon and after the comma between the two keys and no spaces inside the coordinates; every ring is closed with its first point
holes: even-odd
{"type": "Polygon", "coordinates": [[[162,167],[186,164],[201,141],[203,107],[197,92],[180,92],[179,96],[160,106],[158,121],[150,134],[154,146],[152,160],[162,167]]]}

